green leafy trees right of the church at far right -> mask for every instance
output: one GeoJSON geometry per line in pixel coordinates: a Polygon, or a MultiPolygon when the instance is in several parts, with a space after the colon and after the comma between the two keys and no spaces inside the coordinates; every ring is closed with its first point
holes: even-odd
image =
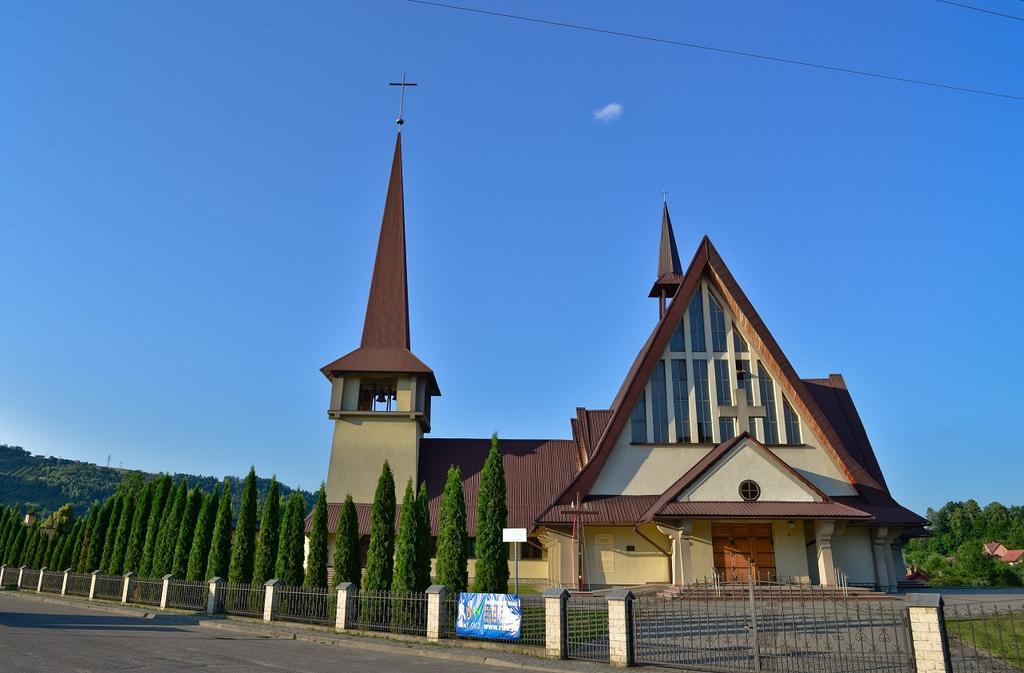
{"type": "Polygon", "coordinates": [[[1001,543],[1024,549],[1024,507],[993,502],[981,507],[974,500],[948,502],[928,510],[931,537],[910,540],[907,563],[931,576],[934,585],[1021,586],[1024,566],[1013,567],[989,556],[984,545],[1001,543]]]}

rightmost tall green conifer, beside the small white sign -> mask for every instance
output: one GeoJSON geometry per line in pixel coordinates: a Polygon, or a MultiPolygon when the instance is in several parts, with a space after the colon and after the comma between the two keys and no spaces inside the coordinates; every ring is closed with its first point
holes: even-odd
{"type": "Polygon", "coordinates": [[[506,593],[509,587],[509,550],[502,542],[502,529],[508,519],[505,494],[505,466],[498,444],[498,433],[490,437],[490,451],[480,473],[476,496],[476,578],[473,590],[481,593],[506,593]]]}

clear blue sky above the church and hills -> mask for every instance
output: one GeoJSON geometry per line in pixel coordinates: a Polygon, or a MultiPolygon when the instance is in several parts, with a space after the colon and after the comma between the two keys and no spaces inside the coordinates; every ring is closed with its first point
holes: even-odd
{"type": "MultiPolygon", "coordinates": [[[[930,0],[467,3],[1024,95],[1020,23],[930,0]]],[[[1022,501],[1024,102],[398,0],[0,6],[0,441],[317,486],[403,71],[433,435],[607,406],[666,190],[898,499],[1022,501]]]]}

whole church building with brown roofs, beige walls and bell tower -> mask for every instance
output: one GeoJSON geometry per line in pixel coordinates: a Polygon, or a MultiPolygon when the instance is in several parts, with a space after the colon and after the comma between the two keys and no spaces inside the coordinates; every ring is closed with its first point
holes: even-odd
{"type": "MultiPolygon", "coordinates": [[[[404,215],[399,131],[361,341],[321,370],[334,423],[332,546],[347,494],[369,536],[385,460],[399,492],[409,478],[426,483],[435,535],[447,469],[461,466],[474,535],[489,438],[429,436],[441,391],[412,350],[404,215]]],[[[684,266],[667,204],[649,297],[657,321],[606,409],[575,408],[570,439],[501,440],[508,525],[529,537],[520,576],[894,590],[902,543],[927,521],[889,493],[843,377],[797,374],[708,237],[684,266]]]]}

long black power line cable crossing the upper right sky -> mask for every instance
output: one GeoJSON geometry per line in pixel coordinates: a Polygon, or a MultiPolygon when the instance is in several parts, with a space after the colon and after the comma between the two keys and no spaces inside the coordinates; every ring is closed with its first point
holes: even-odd
{"type": "Polygon", "coordinates": [[[866,70],[856,70],[853,68],[844,68],[842,66],[826,66],[823,64],[815,64],[810,60],[798,60],[796,58],[784,58],[782,56],[771,56],[768,54],[757,53],[754,51],[741,51],[739,49],[727,49],[725,47],[713,47],[707,44],[699,44],[696,42],[683,42],[680,40],[670,40],[668,38],[652,37],[649,35],[638,35],[636,33],[624,33],[622,31],[612,31],[603,28],[594,28],[592,26],[581,26],[578,24],[567,24],[564,22],[556,22],[548,18],[537,18],[535,16],[522,16],[519,14],[508,14],[500,11],[492,11],[488,9],[478,9],[476,7],[464,7],[461,5],[451,5],[443,2],[431,2],[430,0],[407,0],[419,5],[428,5],[431,7],[441,7],[444,9],[455,9],[458,11],[465,11],[474,14],[486,14],[488,16],[499,16],[501,18],[512,18],[515,20],[529,22],[531,24],[542,24],[544,26],[554,26],[556,28],[568,28],[577,31],[587,31],[589,33],[600,33],[602,35],[612,35],[615,37],[630,38],[633,40],[644,40],[646,42],[656,42],[658,44],[667,44],[676,47],[686,47],[689,49],[702,49],[705,51],[714,51],[717,53],[727,53],[733,56],[746,56],[748,58],[759,58],[761,60],[769,60],[777,64],[786,64],[790,66],[802,66],[804,68],[814,68],[817,70],[830,71],[835,73],[846,73],[847,75],[859,75],[860,77],[871,77],[880,80],[889,80],[891,82],[900,82],[902,84],[918,84],[921,86],[930,86],[936,89],[946,89],[949,91],[958,91],[961,93],[975,93],[979,95],[994,96],[996,98],[1009,98],[1010,100],[1020,100],[1024,101],[1024,96],[1014,95],[1012,93],[1002,93],[1000,91],[990,91],[986,89],[975,89],[966,86],[956,86],[955,84],[944,84],[942,82],[931,82],[928,80],[916,80],[909,77],[900,77],[898,75],[885,75],[883,73],[872,73],[866,70]]]}

